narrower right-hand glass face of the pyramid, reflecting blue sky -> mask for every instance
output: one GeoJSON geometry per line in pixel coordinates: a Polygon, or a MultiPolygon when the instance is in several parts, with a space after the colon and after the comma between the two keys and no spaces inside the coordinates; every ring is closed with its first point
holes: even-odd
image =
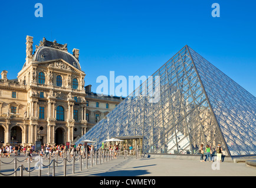
{"type": "Polygon", "coordinates": [[[221,70],[189,48],[232,156],[255,155],[256,100],[221,70]]]}

